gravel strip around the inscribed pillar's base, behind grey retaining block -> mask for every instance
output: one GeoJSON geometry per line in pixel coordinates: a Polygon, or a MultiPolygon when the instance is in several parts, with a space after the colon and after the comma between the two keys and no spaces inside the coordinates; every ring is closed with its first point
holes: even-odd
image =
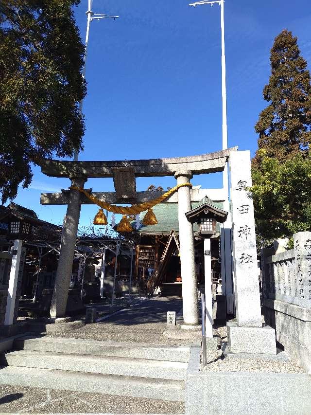
{"type": "MultiPolygon", "coordinates": [[[[216,328],[222,341],[227,341],[227,328],[221,326],[216,328]]],[[[263,359],[238,359],[224,358],[222,350],[207,352],[207,365],[203,366],[202,371],[228,371],[228,372],[273,372],[273,373],[305,373],[294,361],[267,361],[263,359]]]]}

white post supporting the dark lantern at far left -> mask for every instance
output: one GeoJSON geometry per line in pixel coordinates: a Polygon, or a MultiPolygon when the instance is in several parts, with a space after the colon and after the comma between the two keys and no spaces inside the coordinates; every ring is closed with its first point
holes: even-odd
{"type": "Polygon", "coordinates": [[[19,262],[20,262],[22,244],[23,244],[23,241],[21,239],[16,239],[14,241],[8,297],[6,300],[4,325],[12,325],[13,320],[14,320],[18,270],[19,270],[19,262]]]}

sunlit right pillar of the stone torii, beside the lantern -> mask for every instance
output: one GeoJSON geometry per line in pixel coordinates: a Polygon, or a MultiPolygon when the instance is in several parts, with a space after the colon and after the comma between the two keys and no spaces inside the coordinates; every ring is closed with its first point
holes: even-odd
{"type": "MultiPolygon", "coordinates": [[[[191,178],[192,172],[189,170],[180,170],[175,173],[177,184],[189,183],[191,178]]],[[[196,328],[199,325],[193,228],[185,215],[190,210],[190,188],[180,187],[178,189],[178,224],[184,317],[184,324],[181,327],[184,329],[196,328]]]]}

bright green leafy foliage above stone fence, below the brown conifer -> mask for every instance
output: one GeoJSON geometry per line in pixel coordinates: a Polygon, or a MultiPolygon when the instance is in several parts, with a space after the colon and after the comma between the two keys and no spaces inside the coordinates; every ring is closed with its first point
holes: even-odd
{"type": "Polygon", "coordinates": [[[257,232],[263,238],[289,237],[311,230],[311,156],[298,153],[283,163],[259,150],[260,169],[253,167],[257,232]]]}

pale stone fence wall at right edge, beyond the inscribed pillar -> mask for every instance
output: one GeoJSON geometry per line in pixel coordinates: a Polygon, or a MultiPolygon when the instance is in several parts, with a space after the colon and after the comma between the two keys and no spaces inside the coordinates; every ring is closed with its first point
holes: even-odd
{"type": "Polygon", "coordinates": [[[311,374],[311,232],[294,234],[294,249],[261,250],[262,303],[276,341],[311,374]]]}

